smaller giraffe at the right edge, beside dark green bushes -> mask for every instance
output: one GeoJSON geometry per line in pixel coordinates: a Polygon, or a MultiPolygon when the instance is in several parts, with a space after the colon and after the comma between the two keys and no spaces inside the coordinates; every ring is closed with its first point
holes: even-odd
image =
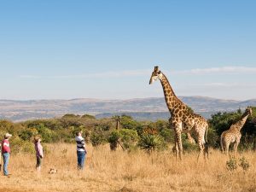
{"type": "Polygon", "coordinates": [[[250,107],[247,107],[245,112],[241,115],[241,119],[238,120],[235,124],[232,124],[229,130],[224,131],[221,134],[220,144],[221,144],[221,149],[223,152],[225,152],[225,154],[229,154],[230,143],[235,143],[234,151],[236,154],[236,150],[241,139],[241,132],[240,132],[241,128],[247,121],[248,116],[252,115],[252,113],[253,113],[253,109],[250,107]]]}

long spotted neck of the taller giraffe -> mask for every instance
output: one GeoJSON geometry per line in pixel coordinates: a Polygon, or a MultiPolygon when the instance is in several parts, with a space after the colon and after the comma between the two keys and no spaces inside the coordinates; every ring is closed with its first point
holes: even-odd
{"type": "Polygon", "coordinates": [[[170,112],[174,109],[177,102],[182,103],[177,96],[175,95],[174,91],[172,90],[172,86],[169,83],[168,79],[166,78],[166,75],[162,73],[162,78],[160,79],[160,82],[162,84],[165,99],[166,99],[166,105],[170,112]]]}

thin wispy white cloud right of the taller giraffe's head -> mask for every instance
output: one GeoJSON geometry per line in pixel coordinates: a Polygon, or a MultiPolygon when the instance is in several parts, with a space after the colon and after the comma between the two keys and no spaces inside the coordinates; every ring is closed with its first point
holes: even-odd
{"type": "Polygon", "coordinates": [[[175,74],[211,74],[211,73],[256,73],[256,67],[243,66],[227,66],[227,67],[209,67],[209,68],[194,68],[183,71],[173,71],[175,74]]]}

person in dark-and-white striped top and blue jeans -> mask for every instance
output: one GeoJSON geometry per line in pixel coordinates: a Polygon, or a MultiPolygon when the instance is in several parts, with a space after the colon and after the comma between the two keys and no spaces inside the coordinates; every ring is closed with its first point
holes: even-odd
{"type": "Polygon", "coordinates": [[[76,142],[77,142],[77,154],[78,154],[78,169],[84,169],[84,160],[85,160],[85,143],[84,138],[82,137],[82,131],[76,133],[76,142]]]}

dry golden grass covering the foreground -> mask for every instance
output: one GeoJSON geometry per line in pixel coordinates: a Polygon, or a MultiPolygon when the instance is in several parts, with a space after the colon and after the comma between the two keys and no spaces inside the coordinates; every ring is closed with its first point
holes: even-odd
{"type": "Polygon", "coordinates": [[[209,160],[200,163],[196,154],[185,154],[182,162],[168,151],[148,155],[143,151],[111,152],[108,145],[88,146],[84,172],[77,171],[74,144],[49,144],[43,169],[35,172],[35,157],[30,154],[11,156],[10,177],[0,177],[2,191],[256,191],[256,155],[245,156],[250,167],[233,173],[226,170],[224,154],[212,150],[209,160]],[[49,175],[50,168],[57,174],[49,175]]]}

